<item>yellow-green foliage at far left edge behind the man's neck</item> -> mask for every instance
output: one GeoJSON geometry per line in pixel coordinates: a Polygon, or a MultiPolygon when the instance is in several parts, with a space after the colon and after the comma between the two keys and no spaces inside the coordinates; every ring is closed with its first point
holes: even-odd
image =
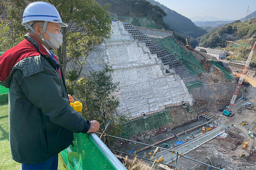
{"type": "Polygon", "coordinates": [[[23,40],[23,35],[16,37],[11,29],[10,23],[3,23],[3,21],[0,23],[0,52],[9,50],[23,40]]]}

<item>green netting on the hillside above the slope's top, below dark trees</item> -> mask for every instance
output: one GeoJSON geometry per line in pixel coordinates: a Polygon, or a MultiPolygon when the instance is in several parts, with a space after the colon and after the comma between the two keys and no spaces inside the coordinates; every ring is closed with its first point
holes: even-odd
{"type": "Polygon", "coordinates": [[[134,25],[136,27],[162,29],[150,17],[118,16],[118,18],[120,19],[120,21],[130,22],[132,25],[134,25]]]}

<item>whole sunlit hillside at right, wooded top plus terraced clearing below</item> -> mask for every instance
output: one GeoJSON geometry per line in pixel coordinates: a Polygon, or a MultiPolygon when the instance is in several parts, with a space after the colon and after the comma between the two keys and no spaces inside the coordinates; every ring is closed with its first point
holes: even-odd
{"type": "MultiPolygon", "coordinates": [[[[226,59],[245,61],[250,54],[253,43],[256,40],[256,20],[248,22],[237,20],[223,27],[216,28],[210,33],[197,38],[199,46],[222,49],[228,52],[226,59]]],[[[250,66],[256,68],[256,54],[250,66]]]]}

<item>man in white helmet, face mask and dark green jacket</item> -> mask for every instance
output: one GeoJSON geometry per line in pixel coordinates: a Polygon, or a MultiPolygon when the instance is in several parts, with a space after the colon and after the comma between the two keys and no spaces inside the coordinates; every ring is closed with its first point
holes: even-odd
{"type": "Polygon", "coordinates": [[[58,153],[74,133],[99,130],[69,104],[57,57],[50,51],[62,44],[66,27],[56,8],[45,2],[29,4],[22,25],[25,39],[0,57],[1,85],[9,88],[9,138],[12,158],[22,169],[55,169],[58,153]]]}

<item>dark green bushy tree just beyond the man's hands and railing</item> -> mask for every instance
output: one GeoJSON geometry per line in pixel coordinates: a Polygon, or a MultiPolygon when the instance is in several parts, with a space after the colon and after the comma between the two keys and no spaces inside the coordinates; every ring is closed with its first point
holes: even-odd
{"type": "MultiPolygon", "coordinates": [[[[81,115],[88,120],[97,120],[100,123],[100,131],[103,132],[104,126],[108,124],[107,134],[119,135],[123,133],[123,122],[126,120],[124,115],[116,115],[116,108],[120,102],[118,99],[117,86],[119,82],[113,83],[111,74],[113,73],[111,66],[105,66],[103,70],[90,71],[90,75],[86,79],[78,80],[74,86],[74,91],[68,91],[69,94],[74,93],[74,97],[82,102],[83,110],[81,115]]],[[[73,84],[71,80],[76,78],[76,74],[71,71],[67,75],[67,89],[73,84]],[[72,77],[73,76],[73,77],[72,77]]],[[[111,146],[113,139],[107,137],[107,146],[111,146]]]]}

